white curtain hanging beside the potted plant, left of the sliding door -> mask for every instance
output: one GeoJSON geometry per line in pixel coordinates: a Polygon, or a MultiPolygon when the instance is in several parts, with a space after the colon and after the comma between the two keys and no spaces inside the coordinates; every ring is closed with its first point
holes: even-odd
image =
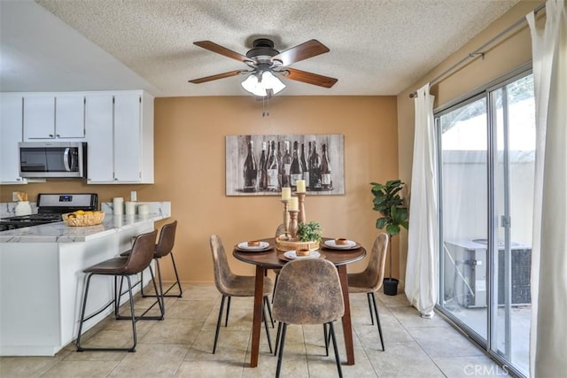
{"type": "Polygon", "coordinates": [[[437,153],[433,120],[434,96],[429,83],[417,90],[414,162],[409,207],[408,263],[405,292],[423,318],[431,318],[437,302],[439,256],[437,153]]]}

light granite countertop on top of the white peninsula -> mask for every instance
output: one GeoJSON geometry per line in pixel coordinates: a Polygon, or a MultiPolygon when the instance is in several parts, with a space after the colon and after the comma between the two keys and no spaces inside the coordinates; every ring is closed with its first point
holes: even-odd
{"type": "Polygon", "coordinates": [[[105,220],[99,225],[88,227],[69,227],[63,221],[18,228],[0,232],[0,243],[77,243],[112,235],[125,228],[132,228],[143,222],[154,222],[169,218],[165,212],[150,214],[113,215],[105,214],[105,220]]]}

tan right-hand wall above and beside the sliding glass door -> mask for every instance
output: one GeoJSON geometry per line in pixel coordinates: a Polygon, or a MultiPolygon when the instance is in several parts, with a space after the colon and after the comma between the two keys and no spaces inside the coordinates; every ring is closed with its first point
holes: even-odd
{"type": "MultiPolygon", "coordinates": [[[[540,5],[541,1],[521,1],[500,19],[497,19],[482,33],[477,35],[462,49],[455,52],[447,60],[436,66],[430,73],[416,81],[408,89],[398,95],[398,140],[400,178],[411,184],[411,166],[414,145],[414,100],[409,94],[423,87],[428,81],[445,72],[470,52],[477,50],[485,42],[490,41],[494,35],[523,18],[527,13],[540,5]]],[[[540,12],[540,14],[544,12],[540,12]]],[[[469,93],[473,89],[493,81],[505,73],[509,73],[518,66],[529,63],[532,59],[532,42],[529,28],[526,23],[513,30],[509,35],[495,42],[485,50],[485,58],[470,59],[461,69],[456,70],[446,79],[431,87],[431,94],[435,96],[435,107],[447,104],[459,96],[469,93]]],[[[411,227],[411,220],[410,220],[411,227]]],[[[408,251],[408,235],[402,234],[400,240],[400,276],[405,275],[406,257],[408,251]]]]}

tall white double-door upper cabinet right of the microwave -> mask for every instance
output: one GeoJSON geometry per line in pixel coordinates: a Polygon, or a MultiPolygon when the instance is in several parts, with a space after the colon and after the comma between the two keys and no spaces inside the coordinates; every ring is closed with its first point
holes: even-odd
{"type": "Polygon", "coordinates": [[[86,98],[89,184],[153,183],[153,96],[105,92],[86,98]]]}

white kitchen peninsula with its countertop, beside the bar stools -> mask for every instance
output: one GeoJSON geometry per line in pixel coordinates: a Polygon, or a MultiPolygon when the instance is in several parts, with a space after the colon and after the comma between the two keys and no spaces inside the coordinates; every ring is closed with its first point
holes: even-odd
{"type": "MultiPolygon", "coordinates": [[[[148,204],[149,214],[106,212],[97,226],[57,222],[0,232],[1,356],[53,356],[76,338],[85,282],[82,270],[127,251],[136,235],[152,231],[155,221],[171,215],[168,202],[148,204]]],[[[144,283],[149,280],[150,274],[144,274],[144,283]]],[[[113,279],[93,276],[87,313],[112,297],[113,279]]],[[[86,322],[83,331],[111,312],[112,306],[86,322]]]]}

